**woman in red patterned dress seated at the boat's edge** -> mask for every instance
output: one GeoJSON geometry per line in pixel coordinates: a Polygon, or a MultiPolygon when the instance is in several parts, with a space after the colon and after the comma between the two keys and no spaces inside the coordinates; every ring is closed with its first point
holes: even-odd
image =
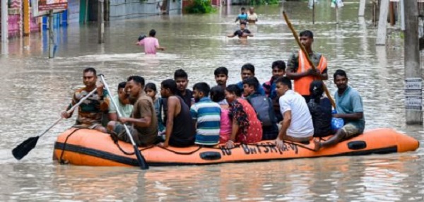
{"type": "Polygon", "coordinates": [[[225,99],[230,104],[232,132],[225,148],[234,148],[234,143],[257,143],[262,139],[262,126],[253,107],[242,99],[242,89],[237,85],[225,88],[225,99]]]}

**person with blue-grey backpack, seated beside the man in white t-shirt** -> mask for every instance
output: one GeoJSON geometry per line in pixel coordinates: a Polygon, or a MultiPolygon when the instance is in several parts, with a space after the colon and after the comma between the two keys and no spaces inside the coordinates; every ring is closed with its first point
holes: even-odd
{"type": "Polygon", "coordinates": [[[273,112],[272,101],[266,95],[257,93],[259,81],[256,77],[243,80],[243,91],[246,100],[252,105],[262,125],[262,140],[275,140],[278,135],[276,115],[273,112]]]}

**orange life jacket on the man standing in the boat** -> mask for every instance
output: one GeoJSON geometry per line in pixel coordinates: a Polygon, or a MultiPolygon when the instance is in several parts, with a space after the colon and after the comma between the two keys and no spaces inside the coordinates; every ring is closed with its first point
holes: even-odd
{"type": "MultiPolygon", "coordinates": [[[[324,69],[326,69],[326,59],[324,56],[321,56],[321,59],[319,59],[319,64],[317,66],[317,69],[322,73],[324,69]]],[[[308,71],[311,69],[312,66],[307,62],[307,57],[305,54],[303,54],[302,50],[299,50],[299,66],[298,71],[296,73],[301,73],[308,71]]],[[[314,76],[304,76],[302,78],[295,79],[295,91],[298,92],[300,95],[310,95],[310,84],[314,81],[314,76]]]]}

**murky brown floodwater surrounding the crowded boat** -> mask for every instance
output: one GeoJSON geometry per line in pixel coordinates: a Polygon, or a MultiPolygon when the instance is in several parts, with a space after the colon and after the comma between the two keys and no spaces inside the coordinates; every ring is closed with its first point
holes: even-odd
{"type": "MultiPolygon", "coordinates": [[[[240,80],[240,67],[251,62],[261,82],[271,76],[271,63],[287,61],[298,49],[281,11],[288,11],[297,30],[314,32],[314,49],[329,60],[329,74],[345,69],[350,84],[363,96],[367,129],[391,127],[424,139],[422,126],[406,126],[403,41],[389,35],[387,47],[375,47],[371,11],[358,18],[357,2],[336,13],[327,2],[317,5],[316,22],[307,2],[258,6],[254,37],[247,42],[225,35],[234,32],[240,6],[209,15],[153,16],[114,21],[97,43],[97,27],[69,25],[57,37],[57,56],[47,59],[47,37],[33,34],[11,39],[0,57],[0,201],[423,201],[424,151],[355,157],[223,164],[211,166],[78,167],[52,162],[56,136],[73,124],[61,121],[42,136],[23,160],[11,149],[52,124],[80,88],[82,70],[93,66],[110,86],[141,75],[156,84],[176,69],[189,73],[191,87],[213,85],[213,70],[230,69],[229,83],[240,80]],[[146,57],[134,45],[139,34],[154,28],[160,45],[146,57]]],[[[370,6],[370,5],[367,5],[370,6]]],[[[335,85],[326,82],[332,93],[335,85]]]]}

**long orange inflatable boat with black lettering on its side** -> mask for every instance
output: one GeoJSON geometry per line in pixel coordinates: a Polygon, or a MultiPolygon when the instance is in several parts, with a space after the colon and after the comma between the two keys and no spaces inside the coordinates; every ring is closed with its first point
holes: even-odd
{"type": "MultiPolygon", "coordinates": [[[[324,141],[324,140],[322,140],[324,141]]],[[[238,144],[225,149],[193,145],[189,148],[139,148],[151,166],[163,165],[210,165],[223,162],[255,162],[264,160],[288,160],[293,158],[317,158],[336,155],[367,155],[372,153],[402,153],[418,148],[415,138],[398,133],[393,129],[374,129],[360,136],[343,141],[319,152],[312,150],[314,143],[285,142],[278,149],[273,141],[254,144],[238,144]]],[[[134,148],[129,143],[114,143],[106,133],[90,129],[69,129],[61,133],[54,145],[58,160],[73,165],[89,166],[137,166],[134,148]]]]}

